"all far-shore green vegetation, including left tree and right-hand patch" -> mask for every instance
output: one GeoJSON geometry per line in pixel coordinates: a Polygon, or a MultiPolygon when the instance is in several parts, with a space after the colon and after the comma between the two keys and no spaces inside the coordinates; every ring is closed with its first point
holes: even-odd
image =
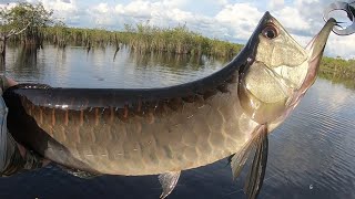
{"type": "MultiPolygon", "coordinates": [[[[23,2],[11,9],[0,9],[0,49],[3,49],[1,43],[6,44],[9,39],[14,43],[36,44],[37,48],[42,48],[43,42],[59,48],[81,45],[88,51],[106,45],[119,51],[125,45],[139,53],[168,52],[232,59],[243,48],[242,44],[205,38],[185,25],[164,29],[140,23],[125,24],[123,31],[79,29],[51,20],[52,13],[41,3],[23,2]]],[[[4,57],[4,51],[2,55],[4,57]]],[[[355,60],[323,57],[320,76],[355,87],[355,60]]]]}

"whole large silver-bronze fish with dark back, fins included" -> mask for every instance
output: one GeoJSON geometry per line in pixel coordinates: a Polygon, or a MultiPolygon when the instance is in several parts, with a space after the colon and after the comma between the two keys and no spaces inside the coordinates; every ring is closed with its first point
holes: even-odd
{"type": "Polygon", "coordinates": [[[255,149],[246,193],[255,198],[267,160],[267,134],[314,83],[326,22],[306,49],[268,12],[222,70],[160,88],[54,88],[19,84],[3,95],[17,142],[45,158],[92,174],[160,175],[166,197],[181,170],[230,157],[234,178],[255,149]]]}

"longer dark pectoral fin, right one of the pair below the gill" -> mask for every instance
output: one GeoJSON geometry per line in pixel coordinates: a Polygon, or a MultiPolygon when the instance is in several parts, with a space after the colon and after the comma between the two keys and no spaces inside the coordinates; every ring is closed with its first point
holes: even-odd
{"type": "Polygon", "coordinates": [[[256,142],[254,142],[256,145],[256,151],[253,165],[244,185],[244,192],[250,199],[257,197],[263,186],[267,164],[268,139],[266,125],[261,126],[258,130],[261,132],[258,133],[256,142]]]}

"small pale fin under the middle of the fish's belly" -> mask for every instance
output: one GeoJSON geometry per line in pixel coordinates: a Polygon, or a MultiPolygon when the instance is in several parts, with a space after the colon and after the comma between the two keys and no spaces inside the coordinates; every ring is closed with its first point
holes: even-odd
{"type": "Polygon", "coordinates": [[[160,196],[161,199],[168,197],[175,188],[179,177],[180,177],[181,170],[179,171],[171,171],[171,172],[164,172],[159,175],[159,182],[163,188],[163,192],[160,196]]]}

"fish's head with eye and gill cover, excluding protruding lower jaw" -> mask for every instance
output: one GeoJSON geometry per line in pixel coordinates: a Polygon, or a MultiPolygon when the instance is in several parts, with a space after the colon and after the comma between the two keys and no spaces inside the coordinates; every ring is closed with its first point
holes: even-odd
{"type": "Polygon", "coordinates": [[[240,70],[241,106],[257,124],[271,123],[283,115],[294,91],[302,85],[307,53],[268,12],[246,48],[254,56],[240,70]]]}

